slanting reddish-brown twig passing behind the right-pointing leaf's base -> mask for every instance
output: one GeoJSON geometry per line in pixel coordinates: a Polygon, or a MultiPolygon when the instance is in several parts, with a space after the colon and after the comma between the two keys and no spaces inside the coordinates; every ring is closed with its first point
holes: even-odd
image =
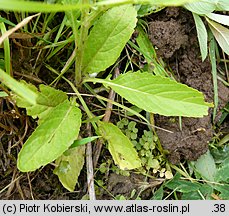
{"type": "MultiPolygon", "coordinates": [[[[113,78],[116,78],[118,75],[119,75],[119,67],[117,66],[114,70],[113,78]]],[[[114,101],[114,99],[115,99],[115,92],[112,89],[109,92],[108,99],[110,101],[114,101]]],[[[103,117],[104,122],[109,122],[110,117],[111,117],[112,107],[113,107],[113,104],[111,102],[108,102],[107,107],[106,107],[106,111],[105,111],[105,115],[103,117]]],[[[100,156],[100,153],[102,150],[102,146],[103,146],[103,143],[102,143],[101,139],[99,139],[96,143],[95,150],[94,150],[94,158],[93,158],[94,168],[97,166],[99,156],[100,156]]]]}

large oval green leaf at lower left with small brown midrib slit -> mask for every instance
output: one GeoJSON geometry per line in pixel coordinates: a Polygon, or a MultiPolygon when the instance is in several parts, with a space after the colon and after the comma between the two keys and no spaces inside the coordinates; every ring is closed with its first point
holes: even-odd
{"type": "Polygon", "coordinates": [[[77,139],[81,111],[65,101],[53,108],[23,145],[17,166],[22,172],[34,171],[57,159],[77,139]]]}

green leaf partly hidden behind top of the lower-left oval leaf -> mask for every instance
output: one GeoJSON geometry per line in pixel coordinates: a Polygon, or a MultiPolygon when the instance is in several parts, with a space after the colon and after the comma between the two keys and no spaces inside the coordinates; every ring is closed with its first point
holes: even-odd
{"type": "Polygon", "coordinates": [[[14,98],[19,107],[26,108],[27,115],[30,115],[33,118],[39,118],[39,124],[42,118],[47,115],[54,107],[68,99],[66,93],[50,86],[42,84],[39,86],[40,91],[38,91],[35,86],[31,86],[30,84],[26,85],[33,89],[33,91],[36,91],[38,95],[37,103],[35,105],[30,105],[26,103],[26,101],[21,97],[16,96],[14,98]]]}

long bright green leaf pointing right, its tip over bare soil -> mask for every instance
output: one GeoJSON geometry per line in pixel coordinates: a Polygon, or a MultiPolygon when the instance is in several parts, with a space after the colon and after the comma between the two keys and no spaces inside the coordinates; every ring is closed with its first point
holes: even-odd
{"type": "Polygon", "coordinates": [[[126,73],[115,80],[91,79],[110,86],[130,103],[165,116],[202,117],[208,107],[201,92],[150,73],[126,73]]]}

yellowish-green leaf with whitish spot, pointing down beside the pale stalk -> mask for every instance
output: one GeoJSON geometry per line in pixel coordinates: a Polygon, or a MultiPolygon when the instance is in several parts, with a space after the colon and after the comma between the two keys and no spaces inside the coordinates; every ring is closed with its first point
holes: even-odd
{"type": "Polygon", "coordinates": [[[57,167],[53,171],[61,184],[69,191],[74,191],[80,171],[84,165],[85,146],[67,150],[56,160],[57,167]]]}

